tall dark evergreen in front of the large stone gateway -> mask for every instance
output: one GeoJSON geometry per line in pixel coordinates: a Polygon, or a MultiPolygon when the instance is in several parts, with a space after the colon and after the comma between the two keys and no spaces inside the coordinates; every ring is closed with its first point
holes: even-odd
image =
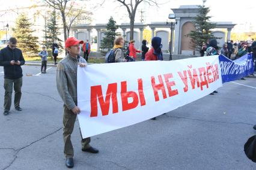
{"type": "Polygon", "coordinates": [[[210,16],[207,16],[210,11],[209,7],[205,7],[204,5],[199,5],[198,7],[199,14],[194,18],[195,20],[193,22],[196,30],[190,31],[187,36],[192,38],[192,42],[199,50],[201,49],[203,42],[207,42],[207,40],[211,38],[216,38],[213,36],[212,31],[210,31],[210,29],[216,27],[216,24],[209,22],[209,19],[211,18],[210,16]]]}

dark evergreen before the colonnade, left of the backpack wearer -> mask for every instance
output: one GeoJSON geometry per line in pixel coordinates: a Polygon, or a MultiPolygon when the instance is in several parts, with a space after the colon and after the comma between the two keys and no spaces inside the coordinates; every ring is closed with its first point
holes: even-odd
{"type": "Polygon", "coordinates": [[[107,51],[111,50],[111,48],[113,48],[115,38],[120,36],[120,33],[115,32],[118,28],[119,26],[116,25],[116,22],[113,19],[113,17],[110,17],[110,19],[108,20],[108,24],[106,25],[106,37],[102,39],[100,45],[101,52],[106,53],[107,51]]]}

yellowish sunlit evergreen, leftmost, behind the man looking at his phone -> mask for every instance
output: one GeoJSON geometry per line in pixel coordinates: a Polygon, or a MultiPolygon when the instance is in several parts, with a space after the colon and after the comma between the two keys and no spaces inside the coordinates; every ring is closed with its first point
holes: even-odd
{"type": "Polygon", "coordinates": [[[34,55],[38,53],[38,37],[34,37],[31,29],[32,23],[29,22],[26,14],[20,14],[16,19],[16,26],[13,29],[13,37],[17,38],[18,47],[26,55],[34,55]]]}

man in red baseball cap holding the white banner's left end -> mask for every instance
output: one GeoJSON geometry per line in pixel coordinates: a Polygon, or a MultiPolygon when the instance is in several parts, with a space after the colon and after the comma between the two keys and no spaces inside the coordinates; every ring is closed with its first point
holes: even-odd
{"type": "MultiPolygon", "coordinates": [[[[65,42],[67,56],[62,59],[57,65],[56,84],[59,95],[64,102],[63,114],[63,139],[64,139],[64,154],[66,156],[66,166],[73,168],[74,150],[70,136],[76,121],[76,115],[80,113],[77,98],[77,71],[78,65],[81,67],[87,66],[87,62],[83,57],[79,56],[80,44],[84,41],[77,40],[75,37],[70,37],[65,42]]],[[[82,136],[82,135],[81,135],[82,136]]],[[[91,138],[82,139],[82,151],[90,153],[98,153],[97,148],[90,145],[91,138]]]]}

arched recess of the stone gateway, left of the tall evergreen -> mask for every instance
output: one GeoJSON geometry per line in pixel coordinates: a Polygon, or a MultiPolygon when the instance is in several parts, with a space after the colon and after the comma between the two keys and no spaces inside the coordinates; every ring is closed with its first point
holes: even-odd
{"type": "Polygon", "coordinates": [[[181,54],[195,54],[195,45],[191,43],[192,39],[186,36],[190,31],[195,31],[194,23],[184,23],[181,29],[181,54]]]}

